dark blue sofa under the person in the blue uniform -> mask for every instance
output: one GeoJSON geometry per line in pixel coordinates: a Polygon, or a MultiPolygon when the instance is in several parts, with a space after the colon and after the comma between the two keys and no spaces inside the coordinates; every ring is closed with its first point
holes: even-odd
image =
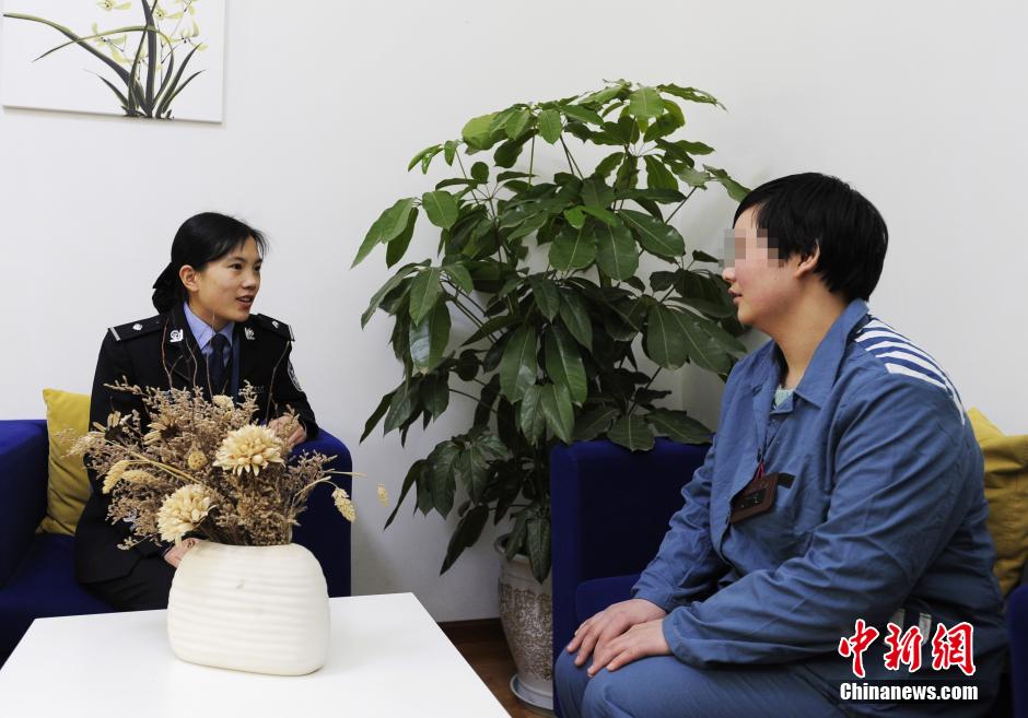
{"type": "MultiPolygon", "coordinates": [[[[632,454],[607,440],[558,446],[550,459],[553,523],[553,656],[591,615],[630,598],[639,573],[656,553],[681,487],[706,447],[657,439],[632,454]]],[[[1007,602],[1011,686],[994,718],[1028,718],[1028,585],[1007,602]],[[1013,714],[1009,701],[1013,698],[1013,714]]],[[[560,707],[554,707],[560,715],[560,707]]]]}

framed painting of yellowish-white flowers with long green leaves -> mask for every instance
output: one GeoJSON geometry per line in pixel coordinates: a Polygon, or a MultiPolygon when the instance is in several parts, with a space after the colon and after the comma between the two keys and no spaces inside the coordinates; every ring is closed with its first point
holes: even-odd
{"type": "Polygon", "coordinates": [[[8,0],[3,104],[220,122],[224,0],[8,0]]]}

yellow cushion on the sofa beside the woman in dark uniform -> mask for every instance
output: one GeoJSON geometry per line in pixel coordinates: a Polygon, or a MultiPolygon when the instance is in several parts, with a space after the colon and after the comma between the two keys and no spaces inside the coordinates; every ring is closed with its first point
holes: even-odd
{"type": "Polygon", "coordinates": [[[79,516],[90,497],[90,480],[82,457],[69,457],[71,448],[58,434],[71,428],[81,436],[90,426],[90,396],[58,389],[44,389],[46,428],[50,436],[50,457],[47,460],[49,481],[46,490],[46,517],[39,530],[47,533],[73,535],[79,516]]]}

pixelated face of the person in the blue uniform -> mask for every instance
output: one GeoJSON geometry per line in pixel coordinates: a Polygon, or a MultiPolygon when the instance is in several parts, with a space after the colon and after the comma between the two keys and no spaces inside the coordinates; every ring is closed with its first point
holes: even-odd
{"type": "Polygon", "coordinates": [[[767,231],[757,228],[757,210],[751,207],[735,223],[722,276],[739,321],[767,331],[792,305],[796,286],[791,280],[798,258],[779,259],[778,250],[768,246],[767,231]]]}

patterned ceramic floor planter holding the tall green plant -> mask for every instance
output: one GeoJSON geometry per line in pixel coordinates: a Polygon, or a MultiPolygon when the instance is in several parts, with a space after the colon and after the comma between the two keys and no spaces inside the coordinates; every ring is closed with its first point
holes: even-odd
{"type": "Polygon", "coordinates": [[[513,561],[500,553],[500,623],[517,674],[511,690],[537,713],[553,715],[553,604],[550,578],[540,584],[531,575],[528,556],[513,561]]]}

